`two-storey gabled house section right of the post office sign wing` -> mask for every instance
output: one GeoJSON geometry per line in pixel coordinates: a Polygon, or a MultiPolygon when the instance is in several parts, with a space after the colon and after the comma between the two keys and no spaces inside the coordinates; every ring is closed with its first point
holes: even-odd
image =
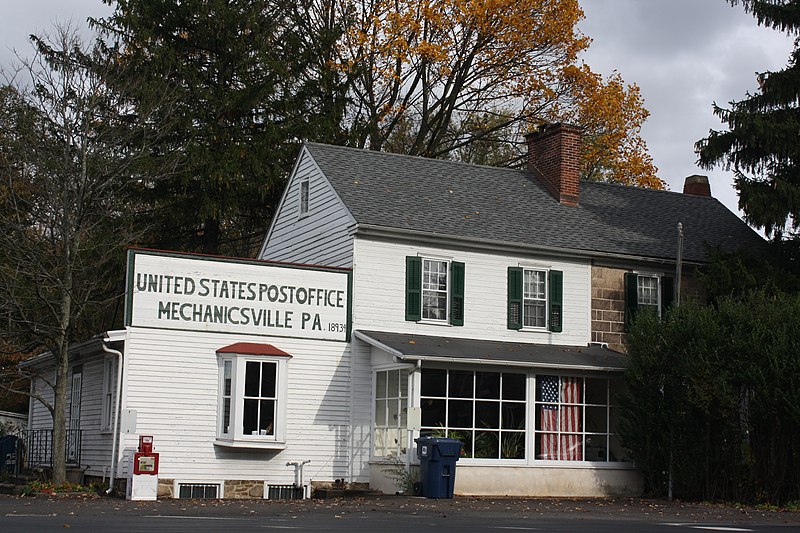
{"type": "Polygon", "coordinates": [[[348,479],[393,490],[414,438],[465,443],[457,494],[636,494],[617,435],[624,330],[707,246],[763,241],[711,197],[580,182],[580,130],[531,135],[527,170],[307,143],[260,257],[351,268],[348,479]],[[419,427],[410,424],[408,414],[419,427]]]}

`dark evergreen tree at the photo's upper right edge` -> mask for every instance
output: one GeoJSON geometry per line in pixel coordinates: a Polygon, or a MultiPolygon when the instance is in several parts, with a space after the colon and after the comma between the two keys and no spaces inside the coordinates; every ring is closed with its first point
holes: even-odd
{"type": "MultiPolygon", "coordinates": [[[[739,0],[729,0],[733,5],[739,0]]],[[[797,35],[800,0],[741,0],[759,24],[797,35]]],[[[800,41],[787,67],[758,75],[759,89],[730,109],[714,106],[728,131],[698,141],[700,164],[732,168],[739,207],[751,224],[780,239],[800,226],[800,41]]]]}

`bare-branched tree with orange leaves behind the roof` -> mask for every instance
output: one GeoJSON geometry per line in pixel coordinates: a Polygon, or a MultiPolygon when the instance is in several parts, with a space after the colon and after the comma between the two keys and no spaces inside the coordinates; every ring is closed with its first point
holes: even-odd
{"type": "Polygon", "coordinates": [[[579,64],[589,39],[576,28],[577,0],[370,0],[339,10],[351,144],[515,164],[527,131],[569,121],[585,127],[585,178],[663,188],[639,135],[638,88],[579,64]]]}

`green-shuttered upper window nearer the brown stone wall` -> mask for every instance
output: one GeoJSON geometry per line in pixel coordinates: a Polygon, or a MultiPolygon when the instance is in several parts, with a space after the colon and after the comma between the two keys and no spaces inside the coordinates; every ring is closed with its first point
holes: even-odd
{"type": "Polygon", "coordinates": [[[524,267],[508,268],[508,328],[562,330],[563,273],[524,267]]]}

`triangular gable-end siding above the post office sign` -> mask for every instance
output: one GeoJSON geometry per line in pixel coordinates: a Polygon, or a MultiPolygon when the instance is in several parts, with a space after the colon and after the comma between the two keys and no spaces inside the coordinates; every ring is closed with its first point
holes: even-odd
{"type": "Polygon", "coordinates": [[[273,218],[260,259],[350,267],[355,224],[328,180],[303,150],[273,218]],[[309,210],[300,215],[300,183],[309,180],[309,210]]]}

